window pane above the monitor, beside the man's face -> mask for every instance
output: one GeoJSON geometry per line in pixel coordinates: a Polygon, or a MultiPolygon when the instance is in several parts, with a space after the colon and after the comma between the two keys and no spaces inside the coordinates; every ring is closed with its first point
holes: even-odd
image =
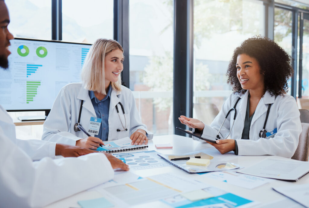
{"type": "Polygon", "coordinates": [[[41,0],[6,0],[10,12],[10,32],[14,37],[52,38],[52,3],[41,0]]]}

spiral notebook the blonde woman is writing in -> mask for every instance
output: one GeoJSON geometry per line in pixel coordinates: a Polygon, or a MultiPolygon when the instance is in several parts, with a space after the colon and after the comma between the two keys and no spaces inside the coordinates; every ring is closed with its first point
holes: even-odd
{"type": "Polygon", "coordinates": [[[98,147],[96,151],[99,152],[107,152],[107,153],[115,153],[122,152],[134,149],[143,149],[148,147],[148,145],[131,145],[132,140],[129,137],[125,137],[118,140],[112,140],[104,142],[103,147],[98,147]]]}

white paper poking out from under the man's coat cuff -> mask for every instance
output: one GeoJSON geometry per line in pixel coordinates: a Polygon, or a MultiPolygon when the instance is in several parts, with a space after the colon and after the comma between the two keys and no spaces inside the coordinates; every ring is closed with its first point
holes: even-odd
{"type": "Polygon", "coordinates": [[[137,181],[142,177],[130,172],[130,171],[116,171],[115,176],[112,180],[102,183],[98,186],[88,189],[88,191],[104,189],[111,186],[116,186],[119,184],[131,183],[137,181]]]}

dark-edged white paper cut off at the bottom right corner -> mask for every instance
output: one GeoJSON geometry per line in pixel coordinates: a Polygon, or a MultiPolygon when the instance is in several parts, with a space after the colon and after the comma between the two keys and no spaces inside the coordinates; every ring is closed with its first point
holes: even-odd
{"type": "Polygon", "coordinates": [[[309,207],[309,184],[291,185],[273,188],[273,190],[288,198],[309,207]]]}

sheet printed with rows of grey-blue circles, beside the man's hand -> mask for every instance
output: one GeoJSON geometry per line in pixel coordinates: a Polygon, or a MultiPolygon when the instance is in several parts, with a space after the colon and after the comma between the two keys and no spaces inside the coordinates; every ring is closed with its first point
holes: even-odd
{"type": "Polygon", "coordinates": [[[125,158],[125,163],[133,170],[171,166],[171,164],[159,157],[158,153],[154,150],[136,153],[116,153],[113,155],[118,158],[125,158]]]}

